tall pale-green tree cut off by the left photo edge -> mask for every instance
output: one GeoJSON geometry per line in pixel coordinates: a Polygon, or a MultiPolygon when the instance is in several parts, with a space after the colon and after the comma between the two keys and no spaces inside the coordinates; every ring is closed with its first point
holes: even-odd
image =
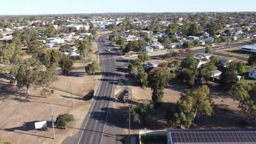
{"type": "Polygon", "coordinates": [[[0,66],[0,72],[8,77],[10,84],[15,82],[22,55],[20,46],[16,46],[14,43],[4,46],[0,44],[0,63],[3,64],[0,66]]]}

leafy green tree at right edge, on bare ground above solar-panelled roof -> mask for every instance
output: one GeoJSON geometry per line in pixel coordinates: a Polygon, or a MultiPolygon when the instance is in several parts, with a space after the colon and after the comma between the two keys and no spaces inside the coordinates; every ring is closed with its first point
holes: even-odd
{"type": "Polygon", "coordinates": [[[238,108],[243,111],[242,123],[247,124],[251,119],[256,119],[256,105],[249,93],[255,91],[247,83],[237,83],[233,85],[228,94],[235,100],[239,101],[238,108]]]}

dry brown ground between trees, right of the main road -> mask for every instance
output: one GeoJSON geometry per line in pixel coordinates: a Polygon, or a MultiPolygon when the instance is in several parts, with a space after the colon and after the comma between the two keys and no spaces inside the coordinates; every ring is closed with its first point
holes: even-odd
{"type": "MultiPolygon", "coordinates": [[[[240,125],[242,119],[241,110],[237,108],[238,101],[234,101],[228,95],[223,92],[222,88],[216,83],[210,82],[208,86],[211,89],[211,97],[214,104],[217,106],[216,117],[201,117],[200,122],[196,123],[195,127],[191,128],[251,128],[255,123],[251,125],[240,125]]],[[[178,82],[171,82],[164,89],[163,104],[156,110],[154,110],[150,123],[143,125],[149,130],[165,130],[168,127],[165,119],[165,113],[170,103],[176,103],[180,97],[180,93],[186,89],[187,86],[178,82]]],[[[149,87],[141,88],[139,86],[132,86],[132,98],[133,100],[141,103],[143,100],[151,100],[152,91],[149,87]]],[[[132,133],[136,133],[138,130],[143,130],[142,125],[133,125],[132,133]]]]}

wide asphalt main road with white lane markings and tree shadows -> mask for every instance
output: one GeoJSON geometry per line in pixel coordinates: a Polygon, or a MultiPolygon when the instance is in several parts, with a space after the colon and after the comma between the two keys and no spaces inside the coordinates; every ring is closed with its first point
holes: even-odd
{"type": "Polygon", "coordinates": [[[78,134],[68,137],[63,143],[123,143],[121,141],[124,140],[124,136],[121,134],[127,122],[125,112],[113,109],[112,102],[115,86],[125,80],[119,68],[127,63],[121,61],[120,54],[110,44],[108,36],[102,35],[96,39],[103,75],[100,86],[78,134]]]}

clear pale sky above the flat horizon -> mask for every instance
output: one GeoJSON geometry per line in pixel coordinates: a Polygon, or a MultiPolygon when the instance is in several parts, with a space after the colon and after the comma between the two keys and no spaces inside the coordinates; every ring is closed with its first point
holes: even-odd
{"type": "Polygon", "coordinates": [[[256,0],[3,0],[0,15],[256,11],[256,0]]]}

